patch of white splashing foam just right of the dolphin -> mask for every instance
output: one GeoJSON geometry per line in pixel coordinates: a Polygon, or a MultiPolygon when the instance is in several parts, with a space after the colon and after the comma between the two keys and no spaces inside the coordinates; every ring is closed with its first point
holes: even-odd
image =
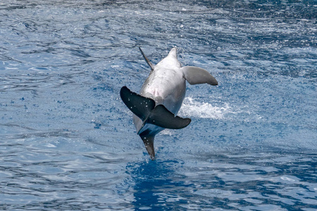
{"type": "Polygon", "coordinates": [[[211,103],[201,102],[197,99],[187,97],[180,108],[180,116],[201,117],[211,119],[223,119],[225,114],[237,113],[232,110],[228,103],[223,106],[212,106],[211,103]]]}

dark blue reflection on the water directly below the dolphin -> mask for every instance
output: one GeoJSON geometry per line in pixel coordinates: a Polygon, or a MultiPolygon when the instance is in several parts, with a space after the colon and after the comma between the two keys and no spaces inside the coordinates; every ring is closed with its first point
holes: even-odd
{"type": "MultiPolygon", "coordinates": [[[[145,160],[128,164],[127,170],[135,184],[135,200],[132,202],[135,210],[163,207],[168,197],[178,200],[178,194],[173,195],[173,192],[184,186],[182,180],[175,179],[179,177],[175,175],[175,169],[181,165],[177,160],[145,160]]],[[[178,203],[182,202],[178,200],[178,203]]]]}

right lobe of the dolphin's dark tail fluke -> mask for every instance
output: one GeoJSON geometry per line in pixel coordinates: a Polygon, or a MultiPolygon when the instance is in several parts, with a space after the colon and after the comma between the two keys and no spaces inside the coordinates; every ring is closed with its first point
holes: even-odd
{"type": "Polygon", "coordinates": [[[175,116],[165,108],[165,106],[159,105],[151,110],[146,122],[167,129],[182,129],[186,127],[191,120],[189,118],[175,116]]]}

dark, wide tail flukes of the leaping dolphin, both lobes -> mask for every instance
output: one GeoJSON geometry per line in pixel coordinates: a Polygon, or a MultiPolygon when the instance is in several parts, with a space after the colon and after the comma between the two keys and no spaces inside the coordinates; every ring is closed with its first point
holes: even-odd
{"type": "Polygon", "coordinates": [[[182,129],[191,122],[189,118],[175,116],[165,106],[155,106],[151,98],[140,96],[127,87],[122,87],[120,97],[132,113],[137,115],[145,124],[154,124],[167,129],[182,129]]]}

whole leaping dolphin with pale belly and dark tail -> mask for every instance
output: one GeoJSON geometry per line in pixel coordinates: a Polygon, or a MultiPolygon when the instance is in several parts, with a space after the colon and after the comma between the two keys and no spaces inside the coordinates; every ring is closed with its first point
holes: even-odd
{"type": "Polygon", "coordinates": [[[151,160],[155,159],[154,137],[163,129],[182,129],[191,122],[189,118],[177,116],[185,98],[186,81],[189,84],[218,85],[217,80],[203,68],[182,67],[173,48],[166,58],[153,65],[144,55],[151,68],[149,77],[142,85],[140,94],[127,87],[120,89],[120,97],[133,113],[137,134],[144,142],[151,160]]]}

